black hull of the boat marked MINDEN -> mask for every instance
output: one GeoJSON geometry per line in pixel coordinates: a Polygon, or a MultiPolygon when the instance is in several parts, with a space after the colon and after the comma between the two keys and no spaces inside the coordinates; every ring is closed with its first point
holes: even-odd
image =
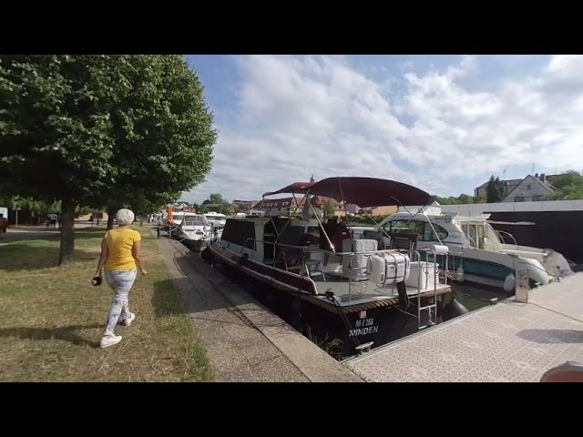
{"type": "MultiPolygon", "coordinates": [[[[371,304],[373,308],[347,312],[330,304],[317,305],[315,300],[330,300],[322,299],[311,290],[298,288],[297,282],[291,285],[290,281],[294,278],[289,272],[264,266],[273,272],[270,277],[263,274],[265,272],[252,269],[253,264],[259,263],[252,263],[249,259],[240,263],[240,259],[235,260],[236,254],[229,253],[225,248],[210,244],[208,250],[213,264],[224,267],[225,273],[234,277],[254,298],[335,358],[355,355],[358,345],[372,341],[372,347],[376,348],[419,329],[414,305],[404,309],[386,305],[374,308],[371,304]],[[289,277],[283,278],[281,274],[289,277]]],[[[204,258],[207,260],[208,257],[204,258]]],[[[304,280],[306,284],[301,285],[309,289],[307,281],[312,282],[312,279],[304,280]]],[[[422,306],[432,303],[430,300],[432,298],[422,298],[422,306]]],[[[443,308],[441,296],[438,302],[439,314],[443,308]]],[[[423,311],[421,324],[425,325],[427,321],[428,313],[423,311]]]]}

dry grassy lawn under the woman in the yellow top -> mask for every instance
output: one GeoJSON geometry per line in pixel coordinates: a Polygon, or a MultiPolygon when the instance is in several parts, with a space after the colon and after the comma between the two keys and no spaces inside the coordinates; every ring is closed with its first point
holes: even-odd
{"type": "Polygon", "coordinates": [[[78,229],[76,262],[55,267],[58,241],[0,246],[0,381],[212,381],[206,352],[183,312],[156,240],[142,233],[148,275],[129,293],[131,326],[98,347],[113,297],[91,285],[104,228],[78,229]]]}

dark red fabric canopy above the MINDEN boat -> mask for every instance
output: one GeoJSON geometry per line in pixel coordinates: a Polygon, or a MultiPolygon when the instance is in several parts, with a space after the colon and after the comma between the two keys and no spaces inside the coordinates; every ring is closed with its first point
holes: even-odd
{"type": "Polygon", "coordinates": [[[378,178],[337,177],[318,182],[295,182],[277,191],[265,193],[271,196],[281,193],[306,194],[334,198],[337,201],[358,205],[360,208],[428,205],[429,193],[402,182],[378,178]]]}

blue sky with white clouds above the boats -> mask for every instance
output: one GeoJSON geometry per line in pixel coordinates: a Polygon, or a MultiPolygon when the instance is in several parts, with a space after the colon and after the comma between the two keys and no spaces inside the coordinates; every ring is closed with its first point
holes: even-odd
{"type": "Polygon", "coordinates": [[[185,200],[260,199],[312,174],[458,196],[533,163],[583,169],[583,56],[187,57],[219,139],[185,200]]]}

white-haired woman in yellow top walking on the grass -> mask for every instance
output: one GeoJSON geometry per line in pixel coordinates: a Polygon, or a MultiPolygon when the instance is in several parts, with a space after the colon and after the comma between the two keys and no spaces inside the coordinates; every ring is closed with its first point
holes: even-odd
{"type": "Polygon", "coordinates": [[[101,241],[101,256],[94,280],[100,283],[101,274],[105,270],[107,285],[116,293],[107,314],[106,329],[99,344],[101,348],[121,341],[121,335],[114,333],[120,318],[125,326],[129,326],[136,318],[136,314],[129,312],[128,293],[136,280],[137,269],[142,275],[148,273],[140,253],[141,236],[137,230],[129,228],[135,218],[131,210],[119,209],[116,213],[118,228],[107,230],[101,241]]]}

